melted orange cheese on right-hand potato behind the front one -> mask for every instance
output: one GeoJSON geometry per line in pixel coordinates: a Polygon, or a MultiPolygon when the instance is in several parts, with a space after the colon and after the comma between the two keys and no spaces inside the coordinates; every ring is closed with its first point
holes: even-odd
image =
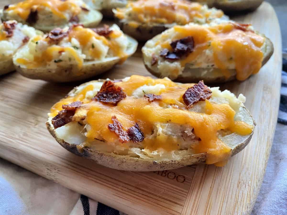
{"type": "MultiPolygon", "coordinates": [[[[170,42],[187,36],[194,39],[194,50],[180,60],[181,66],[193,62],[203,51],[212,47],[213,58],[217,68],[228,76],[228,64],[234,63],[236,79],[243,81],[259,72],[263,60],[261,47],[265,38],[253,31],[243,31],[232,23],[216,26],[174,26],[173,38],[161,44],[162,48],[172,51],[170,42]]],[[[196,65],[200,66],[200,65],[196,65]]],[[[227,77],[228,78],[228,77],[227,77]]]]}

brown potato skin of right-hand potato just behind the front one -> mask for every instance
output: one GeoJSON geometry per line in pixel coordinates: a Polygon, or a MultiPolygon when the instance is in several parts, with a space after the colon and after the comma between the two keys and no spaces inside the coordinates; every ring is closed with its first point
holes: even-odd
{"type": "MultiPolygon", "coordinates": [[[[264,36],[263,34],[261,34],[261,36],[264,36]]],[[[265,37],[265,36],[264,36],[265,37]]],[[[266,53],[264,53],[264,58],[262,61],[262,67],[264,66],[265,63],[267,63],[267,61],[270,59],[270,57],[272,56],[273,52],[274,52],[274,46],[273,43],[271,42],[271,40],[269,40],[269,38],[265,38],[266,42],[267,42],[267,47],[268,50],[266,53]]],[[[145,53],[143,52],[143,56],[145,56],[145,53]]],[[[157,68],[155,67],[150,67],[149,64],[147,64],[147,62],[144,62],[146,69],[152,73],[154,76],[156,77],[160,77],[162,78],[161,73],[157,70],[157,68]]],[[[232,69],[229,70],[231,76],[226,79],[226,77],[224,75],[214,75],[214,76],[187,76],[187,73],[193,73],[193,74],[201,74],[203,71],[205,70],[218,70],[216,68],[214,69],[210,69],[210,68],[195,68],[195,69],[191,69],[191,68],[185,68],[185,70],[183,71],[182,75],[179,75],[177,77],[177,79],[174,79],[173,81],[177,81],[177,82],[182,82],[182,83],[197,83],[200,80],[203,80],[204,83],[225,83],[228,81],[233,81],[236,79],[236,70],[232,69]]]]}

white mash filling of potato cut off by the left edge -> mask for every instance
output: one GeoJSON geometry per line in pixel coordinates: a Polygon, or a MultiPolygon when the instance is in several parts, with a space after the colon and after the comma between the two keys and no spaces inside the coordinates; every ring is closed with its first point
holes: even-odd
{"type": "Polygon", "coordinates": [[[18,23],[15,20],[10,20],[6,23],[15,23],[15,28],[13,29],[13,35],[8,37],[7,33],[4,31],[3,24],[0,25],[0,61],[11,58],[16,50],[23,45],[25,37],[31,38],[40,34],[40,32],[36,31],[34,28],[18,23]]]}

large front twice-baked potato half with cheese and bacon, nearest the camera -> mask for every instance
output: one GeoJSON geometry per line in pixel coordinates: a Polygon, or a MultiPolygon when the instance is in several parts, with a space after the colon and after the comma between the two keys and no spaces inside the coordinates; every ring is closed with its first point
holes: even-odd
{"type": "Polygon", "coordinates": [[[244,101],[203,81],[133,75],[75,87],[53,105],[46,126],[65,149],[114,169],[223,166],[255,128],[244,101]]]}

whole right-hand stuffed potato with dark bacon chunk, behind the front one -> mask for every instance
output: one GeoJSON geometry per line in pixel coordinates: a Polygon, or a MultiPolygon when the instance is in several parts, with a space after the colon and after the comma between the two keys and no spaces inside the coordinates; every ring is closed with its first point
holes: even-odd
{"type": "Polygon", "coordinates": [[[220,21],[174,26],[146,42],[142,53],[157,77],[222,83],[258,73],[272,56],[273,44],[249,24],[220,21]]]}

